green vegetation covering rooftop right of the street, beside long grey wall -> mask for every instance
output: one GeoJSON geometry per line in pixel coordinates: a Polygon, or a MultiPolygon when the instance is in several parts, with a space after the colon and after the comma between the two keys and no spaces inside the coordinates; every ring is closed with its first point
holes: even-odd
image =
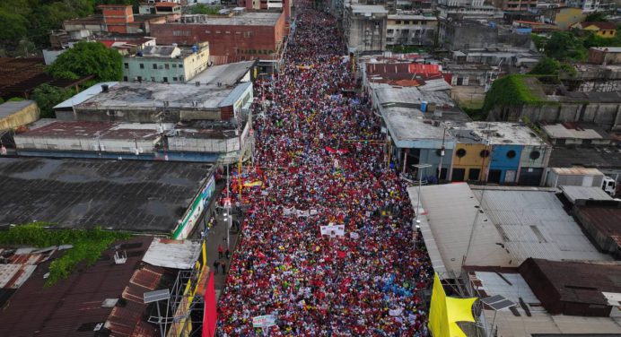
{"type": "Polygon", "coordinates": [[[512,74],[500,78],[487,91],[483,103],[483,111],[488,112],[494,107],[520,107],[523,105],[554,104],[548,102],[541,90],[537,77],[512,74]]]}

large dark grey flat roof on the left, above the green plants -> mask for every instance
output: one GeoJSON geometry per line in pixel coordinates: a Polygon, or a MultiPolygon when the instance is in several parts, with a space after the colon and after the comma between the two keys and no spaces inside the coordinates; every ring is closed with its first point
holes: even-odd
{"type": "Polygon", "coordinates": [[[2,158],[0,224],[168,233],[208,172],[192,163],[2,158]]]}

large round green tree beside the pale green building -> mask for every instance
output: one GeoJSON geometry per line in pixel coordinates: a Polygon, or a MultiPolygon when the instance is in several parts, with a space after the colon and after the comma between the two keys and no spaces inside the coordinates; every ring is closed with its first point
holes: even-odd
{"type": "Polygon", "coordinates": [[[96,81],[120,81],[123,77],[123,56],[100,42],[82,41],[74,45],[48,67],[54,78],[75,80],[95,75],[96,81]]]}

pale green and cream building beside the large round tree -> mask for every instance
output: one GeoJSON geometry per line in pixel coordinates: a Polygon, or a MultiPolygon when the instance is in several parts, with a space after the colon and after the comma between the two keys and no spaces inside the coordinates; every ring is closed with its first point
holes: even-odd
{"type": "Polygon", "coordinates": [[[177,46],[150,46],[123,58],[123,81],[179,82],[191,80],[209,64],[209,44],[191,49],[177,46]]]}

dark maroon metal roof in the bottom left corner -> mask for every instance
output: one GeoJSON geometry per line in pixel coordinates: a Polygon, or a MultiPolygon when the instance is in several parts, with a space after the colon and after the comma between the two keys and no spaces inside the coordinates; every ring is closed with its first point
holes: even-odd
{"type": "MultiPolygon", "coordinates": [[[[111,263],[114,247],[104,252],[91,267],[74,272],[52,287],[44,287],[51,261],[39,264],[29,281],[15,292],[7,307],[0,311],[0,330],[7,336],[93,336],[96,324],[103,324],[114,311],[133,309],[129,317],[142,317],[144,304],[127,301],[125,306],[104,306],[106,299],[118,299],[140,267],[144,251],[152,238],[137,237],[120,241],[127,251],[125,264],[111,263]]],[[[159,280],[159,279],[158,279],[159,280]]],[[[143,291],[149,291],[142,287],[143,291]]],[[[141,294],[142,295],[142,294],[141,294]]],[[[155,336],[155,325],[147,324],[155,336]]],[[[132,330],[134,325],[132,325],[132,330]]],[[[112,335],[123,335],[111,329],[112,335]]]]}

